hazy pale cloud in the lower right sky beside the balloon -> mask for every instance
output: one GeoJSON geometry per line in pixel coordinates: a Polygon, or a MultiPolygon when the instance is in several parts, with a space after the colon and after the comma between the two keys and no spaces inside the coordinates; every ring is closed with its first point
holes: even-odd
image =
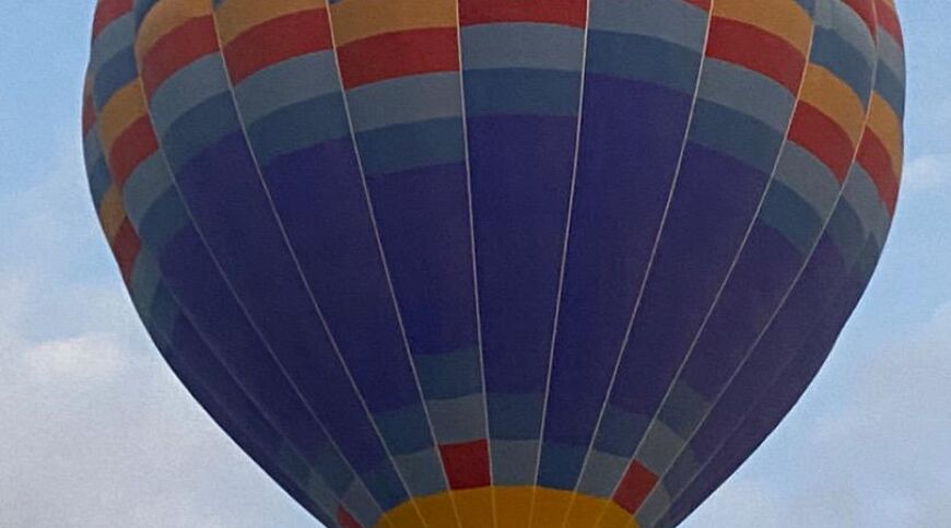
{"type": "Polygon", "coordinates": [[[948,526],[951,305],[893,336],[873,351],[836,350],[853,356],[854,376],[820,377],[810,390],[823,410],[794,410],[794,423],[754,456],[788,474],[741,469],[686,526],[948,526]]]}

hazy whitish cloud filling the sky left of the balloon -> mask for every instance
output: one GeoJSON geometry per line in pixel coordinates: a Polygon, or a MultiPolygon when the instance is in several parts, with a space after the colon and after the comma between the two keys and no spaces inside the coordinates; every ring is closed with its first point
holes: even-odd
{"type": "Polygon", "coordinates": [[[59,151],[0,196],[0,526],[314,526],[163,364],[59,151]]]}

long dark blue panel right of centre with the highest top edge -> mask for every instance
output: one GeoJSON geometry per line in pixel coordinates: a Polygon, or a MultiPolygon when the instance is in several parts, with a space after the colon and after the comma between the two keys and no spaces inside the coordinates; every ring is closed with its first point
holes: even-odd
{"type": "Polygon", "coordinates": [[[545,441],[588,446],[654,248],[690,97],[589,75],[545,441]]]}

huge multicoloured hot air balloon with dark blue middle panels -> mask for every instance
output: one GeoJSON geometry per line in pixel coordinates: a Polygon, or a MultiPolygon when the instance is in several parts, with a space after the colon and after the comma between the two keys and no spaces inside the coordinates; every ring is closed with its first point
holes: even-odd
{"type": "Polygon", "coordinates": [[[902,164],[892,0],[99,0],[90,187],[336,527],[669,527],[803,392],[902,164]]]}

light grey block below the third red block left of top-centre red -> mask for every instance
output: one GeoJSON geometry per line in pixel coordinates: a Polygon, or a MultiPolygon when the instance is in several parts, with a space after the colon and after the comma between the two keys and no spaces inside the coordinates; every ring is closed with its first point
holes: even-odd
{"type": "Polygon", "coordinates": [[[221,55],[211,54],[178,70],[152,95],[152,122],[160,137],[188,110],[227,92],[227,77],[221,55]]]}

